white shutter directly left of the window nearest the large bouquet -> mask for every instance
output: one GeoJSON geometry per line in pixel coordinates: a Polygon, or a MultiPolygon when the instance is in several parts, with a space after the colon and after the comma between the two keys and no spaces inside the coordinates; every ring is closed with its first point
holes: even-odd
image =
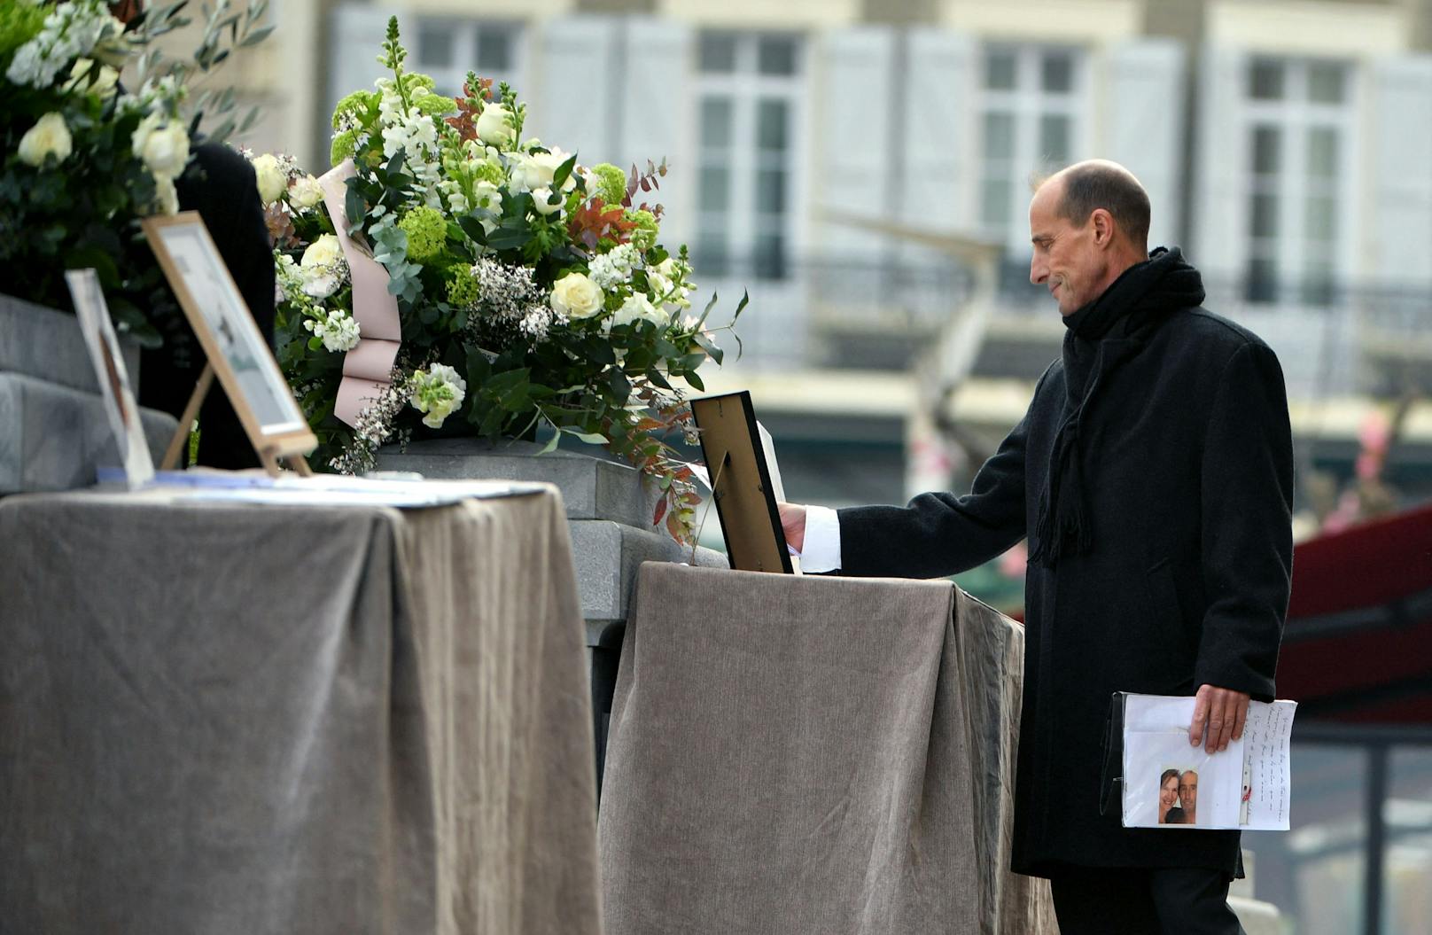
{"type": "Polygon", "coordinates": [[[613,119],[617,150],[610,162],[630,169],[666,159],[672,172],[662,189],[639,192],[633,200],[666,206],[662,242],[674,249],[693,231],[696,209],[695,95],[692,93],[692,49],[695,33],[684,23],[644,16],[626,20],[619,47],[620,113],[613,119]]]}

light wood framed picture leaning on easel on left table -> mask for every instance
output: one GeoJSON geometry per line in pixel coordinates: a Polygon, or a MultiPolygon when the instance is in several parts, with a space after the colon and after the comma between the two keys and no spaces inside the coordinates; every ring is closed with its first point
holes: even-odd
{"type": "Polygon", "coordinates": [[[261,460],[312,451],[318,440],[199,213],[146,218],[143,228],[261,460]]]}

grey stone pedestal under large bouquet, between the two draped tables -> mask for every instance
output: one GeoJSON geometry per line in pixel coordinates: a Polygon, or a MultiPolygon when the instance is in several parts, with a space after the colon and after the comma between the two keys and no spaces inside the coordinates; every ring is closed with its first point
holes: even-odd
{"type": "Polygon", "coordinates": [[[637,568],[643,561],[720,568],[730,564],[722,553],[696,548],[693,554],[653,528],[657,491],[642,483],[636,468],[589,454],[553,451],[538,455],[538,451],[541,445],[526,441],[494,444],[481,438],[438,438],[412,442],[402,452],[397,447],[384,448],[378,452],[377,468],[417,471],[431,478],[546,481],[561,488],[581,616],[587,621],[600,793],[611,696],[637,568]]]}

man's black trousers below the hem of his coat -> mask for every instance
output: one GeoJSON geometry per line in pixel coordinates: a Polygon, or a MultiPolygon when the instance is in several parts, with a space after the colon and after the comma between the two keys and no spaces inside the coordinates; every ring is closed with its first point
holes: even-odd
{"type": "Polygon", "coordinates": [[[1070,868],[1050,885],[1060,935],[1243,935],[1221,871],[1070,868]]]}

